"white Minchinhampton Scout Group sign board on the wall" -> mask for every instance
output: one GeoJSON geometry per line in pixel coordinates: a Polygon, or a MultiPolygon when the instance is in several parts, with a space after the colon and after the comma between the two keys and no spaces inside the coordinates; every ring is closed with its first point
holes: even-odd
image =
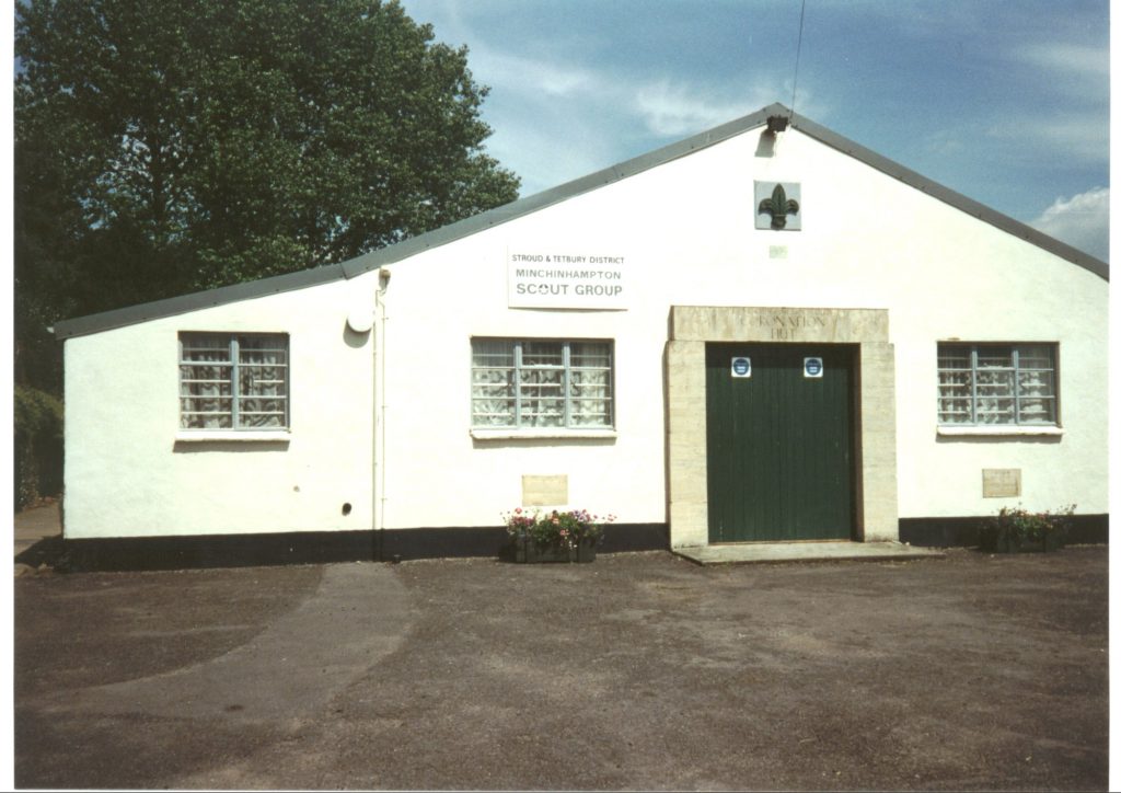
{"type": "Polygon", "coordinates": [[[626,256],[602,251],[511,250],[507,305],[511,308],[626,310],[626,256]]]}

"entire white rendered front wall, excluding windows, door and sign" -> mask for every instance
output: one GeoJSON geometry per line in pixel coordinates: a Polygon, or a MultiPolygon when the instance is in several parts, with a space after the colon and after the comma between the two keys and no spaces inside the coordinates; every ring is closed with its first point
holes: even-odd
{"type": "Polygon", "coordinates": [[[67,339],[66,536],[498,526],[526,474],[665,524],[674,305],[887,311],[899,518],[1108,513],[1108,283],[794,127],[760,156],[761,133],[382,270],[67,339]],[[754,228],[756,181],[800,185],[800,230],[754,228]],[[623,257],[628,307],[508,307],[519,251],[623,257]],[[373,328],[349,330],[364,312],[373,328]],[[194,330],[289,334],[287,443],[183,440],[176,339],[194,330]],[[613,340],[614,431],[473,434],[473,336],[613,340]],[[937,343],[954,340],[1056,342],[1060,427],[939,433],[937,343]],[[1021,469],[1021,496],[983,498],[983,469],[1021,469]]]}

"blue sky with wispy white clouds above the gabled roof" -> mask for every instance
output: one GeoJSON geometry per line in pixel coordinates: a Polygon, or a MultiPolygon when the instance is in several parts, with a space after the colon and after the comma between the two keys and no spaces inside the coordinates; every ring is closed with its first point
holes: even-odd
{"type": "Polygon", "coordinates": [[[467,45],[489,151],[554,187],[794,103],[1108,259],[1109,0],[402,0],[467,45]]]}

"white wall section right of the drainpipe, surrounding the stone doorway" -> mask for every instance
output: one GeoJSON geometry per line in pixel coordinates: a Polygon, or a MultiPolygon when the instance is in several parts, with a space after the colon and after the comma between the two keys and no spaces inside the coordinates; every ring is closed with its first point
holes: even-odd
{"type": "Polygon", "coordinates": [[[772,158],[754,156],[757,138],[393,266],[387,527],[493,525],[520,502],[525,473],[568,474],[573,506],[664,522],[661,356],[675,303],[888,308],[900,517],[986,515],[1021,502],[1108,510],[1106,283],[797,131],[772,158]],[[802,183],[803,231],[753,229],[754,179],[802,183]],[[772,259],[771,246],[785,246],[786,258],[772,259]],[[508,310],[512,250],[626,256],[631,307],[508,310]],[[472,335],[614,339],[618,439],[473,443],[472,335]],[[952,339],[1058,342],[1064,434],[939,439],[936,351],[952,339]],[[446,391],[426,387],[437,360],[446,391]],[[417,448],[439,450],[438,460],[410,453],[417,448]],[[985,468],[1022,469],[1022,497],[982,498],[985,468]]]}

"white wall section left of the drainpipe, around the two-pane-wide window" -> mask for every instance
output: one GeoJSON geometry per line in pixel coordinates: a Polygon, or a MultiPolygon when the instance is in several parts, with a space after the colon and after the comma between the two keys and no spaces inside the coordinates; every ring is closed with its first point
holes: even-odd
{"type": "Polygon", "coordinates": [[[374,284],[371,274],[67,340],[66,536],[370,528],[373,344],[345,321],[354,304],[373,311],[374,284]],[[179,331],[290,334],[287,444],[176,441],[179,331]]]}

